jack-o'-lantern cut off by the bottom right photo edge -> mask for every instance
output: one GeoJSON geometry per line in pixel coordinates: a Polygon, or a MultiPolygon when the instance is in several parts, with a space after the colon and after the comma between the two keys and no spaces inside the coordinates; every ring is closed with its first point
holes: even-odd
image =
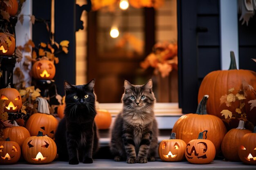
{"type": "Polygon", "coordinates": [[[238,156],[246,164],[256,165],[256,126],[245,134],[238,144],[238,156]]]}

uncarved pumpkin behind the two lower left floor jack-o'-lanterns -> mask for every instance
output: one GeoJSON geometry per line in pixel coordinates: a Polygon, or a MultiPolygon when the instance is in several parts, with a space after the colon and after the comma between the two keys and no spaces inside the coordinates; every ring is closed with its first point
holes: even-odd
{"type": "Polygon", "coordinates": [[[30,137],[29,131],[25,127],[19,126],[16,121],[13,121],[12,127],[7,127],[3,130],[3,135],[4,138],[9,137],[11,141],[16,141],[20,148],[23,141],[30,137]]]}

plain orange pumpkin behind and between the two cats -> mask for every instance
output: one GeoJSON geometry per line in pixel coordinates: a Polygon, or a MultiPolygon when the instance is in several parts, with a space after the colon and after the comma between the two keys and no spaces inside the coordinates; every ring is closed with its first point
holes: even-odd
{"type": "Polygon", "coordinates": [[[108,110],[97,109],[94,121],[98,129],[108,129],[111,125],[112,117],[108,110]]]}

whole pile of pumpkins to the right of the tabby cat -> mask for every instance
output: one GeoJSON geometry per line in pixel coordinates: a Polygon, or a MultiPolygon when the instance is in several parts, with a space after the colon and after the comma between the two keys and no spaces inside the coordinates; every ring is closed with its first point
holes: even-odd
{"type": "MultiPolygon", "coordinates": [[[[252,132],[245,129],[245,122],[240,120],[237,128],[231,128],[227,132],[220,119],[220,112],[225,109],[225,103],[220,104],[221,96],[231,88],[240,89],[243,81],[256,89],[256,73],[238,70],[234,52],[231,51],[229,70],[213,71],[204,77],[198,92],[198,102],[202,100],[196,113],[183,115],[175,122],[171,138],[159,144],[159,157],[170,162],[182,161],[186,157],[190,163],[205,164],[213,161],[222,151],[222,155],[229,161],[256,165],[256,126],[252,132]],[[205,139],[202,138],[203,132],[208,132],[205,139]]],[[[250,109],[248,104],[253,99],[255,95],[247,94],[245,112],[247,119],[255,125],[256,108],[250,109]]],[[[236,113],[235,107],[228,109],[236,113]]]]}

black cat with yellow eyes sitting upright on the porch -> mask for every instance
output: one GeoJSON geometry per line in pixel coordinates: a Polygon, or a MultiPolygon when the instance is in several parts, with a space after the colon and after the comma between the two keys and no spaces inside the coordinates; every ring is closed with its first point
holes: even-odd
{"type": "Polygon", "coordinates": [[[88,84],[74,86],[64,83],[65,116],[55,134],[58,158],[76,165],[79,161],[92,163],[92,155],[99,147],[94,117],[96,115],[94,79],[88,84]]]}

